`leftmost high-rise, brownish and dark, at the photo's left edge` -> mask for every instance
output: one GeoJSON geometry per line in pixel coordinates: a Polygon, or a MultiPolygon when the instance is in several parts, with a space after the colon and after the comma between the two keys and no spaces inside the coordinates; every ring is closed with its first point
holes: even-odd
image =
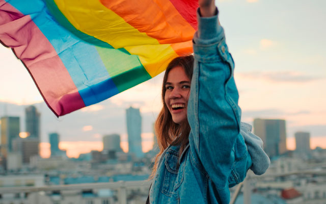
{"type": "Polygon", "coordinates": [[[19,117],[1,118],[1,153],[5,158],[12,151],[12,141],[19,137],[19,125],[19,117]]]}

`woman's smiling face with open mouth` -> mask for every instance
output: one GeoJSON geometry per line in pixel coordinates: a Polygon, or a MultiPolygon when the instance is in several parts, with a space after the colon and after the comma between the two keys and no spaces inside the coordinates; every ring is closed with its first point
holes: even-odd
{"type": "Polygon", "coordinates": [[[191,80],[187,77],[182,67],[174,67],[168,73],[164,100],[175,123],[180,124],[187,119],[190,85],[191,80]]]}

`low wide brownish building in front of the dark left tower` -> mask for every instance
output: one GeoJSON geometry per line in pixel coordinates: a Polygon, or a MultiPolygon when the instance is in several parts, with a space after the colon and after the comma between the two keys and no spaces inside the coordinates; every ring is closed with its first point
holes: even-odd
{"type": "Polygon", "coordinates": [[[29,164],[31,157],[39,155],[39,139],[15,138],[12,141],[12,150],[21,154],[22,163],[29,164]]]}

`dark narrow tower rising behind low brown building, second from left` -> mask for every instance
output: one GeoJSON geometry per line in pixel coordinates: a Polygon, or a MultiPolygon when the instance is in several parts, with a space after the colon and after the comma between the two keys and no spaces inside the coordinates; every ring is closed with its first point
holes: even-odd
{"type": "Polygon", "coordinates": [[[30,138],[40,140],[40,113],[35,106],[25,108],[25,125],[26,132],[30,133],[30,138]]]}

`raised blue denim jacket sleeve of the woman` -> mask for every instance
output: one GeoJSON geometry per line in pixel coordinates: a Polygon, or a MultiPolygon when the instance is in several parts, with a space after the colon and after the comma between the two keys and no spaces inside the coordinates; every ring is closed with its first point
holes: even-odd
{"type": "Polygon", "coordinates": [[[195,64],[187,108],[189,144],[197,166],[204,167],[218,189],[227,188],[230,175],[235,175],[236,183],[241,182],[252,161],[240,134],[234,62],[218,15],[198,16],[193,41],[195,64]]]}

